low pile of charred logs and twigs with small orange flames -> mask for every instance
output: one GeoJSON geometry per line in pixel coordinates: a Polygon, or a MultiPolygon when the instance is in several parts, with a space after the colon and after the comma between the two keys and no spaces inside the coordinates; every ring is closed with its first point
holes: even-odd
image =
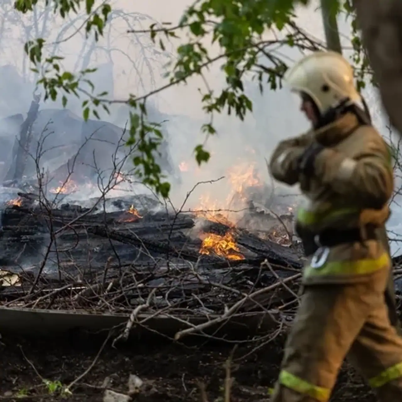
{"type": "Polygon", "coordinates": [[[291,237],[285,215],[281,233],[274,225],[258,236],[219,216],[169,212],[146,195],[93,201],[53,207],[18,193],[5,202],[2,307],[293,316],[304,257],[297,242],[278,244],[291,237]]]}

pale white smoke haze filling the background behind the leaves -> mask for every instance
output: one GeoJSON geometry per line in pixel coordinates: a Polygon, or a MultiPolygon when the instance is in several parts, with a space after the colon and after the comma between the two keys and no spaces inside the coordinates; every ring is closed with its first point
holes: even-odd
{"type": "MultiPolygon", "coordinates": [[[[100,1],[96,4],[101,4],[100,1]]],[[[116,0],[111,2],[113,13],[111,22],[105,29],[105,36],[95,42],[90,35],[85,37],[82,27],[85,20],[85,12],[82,10],[77,16],[71,15],[66,20],[55,16],[51,10],[45,10],[37,6],[34,13],[23,16],[13,9],[12,2],[5,4],[0,11],[0,117],[13,119],[2,120],[0,127],[0,140],[2,148],[8,147],[4,155],[10,154],[14,138],[26,117],[27,111],[33,99],[35,80],[37,77],[30,70],[31,64],[23,51],[23,45],[37,37],[46,39],[47,55],[57,54],[64,57],[60,62],[62,69],[78,73],[86,68],[98,68],[98,71],[88,76],[95,86],[95,94],[108,91],[110,99],[127,99],[130,93],[143,95],[166,84],[163,78],[164,65],[169,61],[174,62],[174,49],[183,41],[171,39],[165,41],[166,51],[152,44],[148,34],[127,33],[128,29],[147,29],[152,23],[171,22],[174,26],[180,20],[186,7],[192,4],[187,0],[166,2],[165,0],[128,1],[116,0]]],[[[321,13],[317,4],[308,8],[300,8],[297,12],[297,24],[317,41],[324,43],[324,30],[321,13]]],[[[345,55],[351,54],[350,21],[340,16],[339,28],[342,43],[345,47],[345,55]]],[[[273,37],[273,33],[267,32],[267,38],[273,37]]],[[[279,34],[280,35],[280,34],[279,34]]],[[[207,41],[204,43],[207,45],[207,41]]],[[[218,48],[210,48],[212,54],[219,52],[218,48]]],[[[281,57],[287,64],[293,64],[303,53],[299,49],[287,46],[278,47],[274,54],[281,57]]],[[[269,65],[268,60],[263,62],[269,65]]],[[[208,72],[205,78],[215,94],[224,87],[224,74],[217,62],[208,72]]],[[[150,119],[154,121],[166,121],[163,124],[168,154],[172,169],[167,172],[168,179],[172,183],[171,200],[175,207],[180,207],[186,195],[198,182],[214,182],[199,185],[183,209],[197,209],[207,207],[210,209],[234,209],[246,208],[247,202],[240,193],[244,186],[252,184],[256,187],[269,189],[272,185],[266,166],[266,158],[269,158],[277,142],[286,137],[298,135],[308,129],[308,122],[299,112],[297,100],[290,92],[284,89],[270,90],[265,85],[264,93],[258,91],[258,83],[251,81],[246,83],[246,93],[253,101],[253,113],[249,114],[245,121],[240,121],[234,115],[214,115],[213,123],[217,129],[217,135],[207,139],[206,148],[211,152],[211,159],[207,164],[199,168],[194,160],[193,150],[197,144],[204,143],[205,135],[201,133],[201,125],[209,121],[201,108],[201,95],[198,88],[206,91],[203,80],[199,77],[191,78],[186,85],[170,87],[150,98],[150,119]],[[243,179],[240,179],[243,177],[243,179]],[[239,187],[240,186],[240,187],[239,187]],[[243,186],[243,187],[242,187],[243,186]]],[[[90,90],[90,87],[87,88],[90,90]]],[[[41,88],[37,92],[43,92],[41,88]]],[[[371,111],[375,126],[388,135],[386,118],[379,106],[377,93],[367,85],[365,97],[371,111]]],[[[76,148],[67,145],[79,142],[82,117],[82,101],[84,96],[76,99],[68,96],[67,109],[69,110],[68,123],[62,127],[57,123],[55,136],[49,136],[47,147],[59,147],[53,152],[52,157],[43,159],[41,168],[53,171],[69,158],[72,158],[76,148]],[[70,121],[79,121],[77,128],[71,126],[70,121]],[[58,136],[57,140],[53,139],[58,136]],[[62,140],[66,147],[62,147],[62,140]]],[[[41,125],[54,116],[55,109],[62,109],[60,96],[56,102],[47,100],[39,105],[39,117],[41,125]]],[[[111,105],[111,114],[100,109],[100,118],[123,128],[128,118],[128,108],[121,103],[111,105]]],[[[64,116],[64,115],[63,115],[64,116]]],[[[60,117],[57,122],[65,117],[60,117]]],[[[96,120],[94,116],[90,119],[96,120]]],[[[67,121],[67,120],[66,120],[67,121]]],[[[39,123],[38,123],[39,124],[39,123]]],[[[109,127],[109,126],[108,126],[109,127]]],[[[5,149],[5,148],[4,148],[5,149]]],[[[0,170],[8,161],[0,152],[0,170]],[[4,160],[2,160],[2,158],[4,160]]],[[[109,154],[101,156],[104,160],[110,160],[109,154]]],[[[106,163],[106,162],[105,162],[106,163]]],[[[125,164],[126,170],[132,169],[130,162],[125,164]]],[[[4,170],[2,176],[4,178],[4,170]]],[[[53,187],[57,187],[54,183],[53,187]]],[[[278,186],[281,192],[297,193],[296,188],[284,188],[278,186]]],[[[124,197],[132,194],[151,194],[150,190],[140,184],[121,183],[118,189],[114,189],[109,196],[124,197]]],[[[96,186],[84,185],[79,187],[74,195],[64,198],[64,201],[78,200],[83,204],[89,203],[90,198],[100,194],[96,186]]],[[[269,199],[269,191],[265,192],[265,198],[269,199]]],[[[113,205],[109,210],[113,210],[113,205]]],[[[241,219],[241,213],[231,214],[231,218],[241,219]]],[[[402,232],[400,227],[400,207],[393,206],[393,216],[390,220],[390,228],[396,232],[402,232]]],[[[396,251],[394,246],[393,251],[396,251]]]]}

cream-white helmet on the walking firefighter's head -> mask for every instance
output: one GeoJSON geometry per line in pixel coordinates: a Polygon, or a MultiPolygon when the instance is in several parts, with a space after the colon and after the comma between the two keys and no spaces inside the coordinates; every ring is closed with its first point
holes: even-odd
{"type": "Polygon", "coordinates": [[[317,51],[304,57],[283,76],[294,92],[308,94],[320,113],[349,98],[361,104],[361,96],[353,81],[353,68],[339,53],[317,51]]]}

